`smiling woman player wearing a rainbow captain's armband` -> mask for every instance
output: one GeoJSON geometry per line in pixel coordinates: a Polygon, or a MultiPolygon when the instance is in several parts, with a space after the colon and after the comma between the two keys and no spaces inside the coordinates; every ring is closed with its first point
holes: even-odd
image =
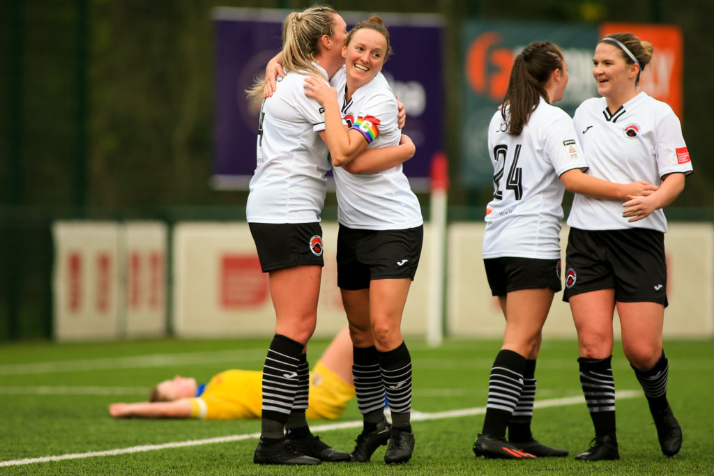
{"type": "Polygon", "coordinates": [[[367,148],[396,145],[396,99],[381,69],[391,49],[381,18],[358,23],[344,47],[346,68],[328,88],[306,79],[306,95],[325,108],[340,223],[338,285],[354,345],[353,376],[363,414],[363,431],[351,453],[368,461],[389,441],[388,463],[406,462],[414,448],[411,429],[411,356],[401,335],[401,319],[421,255],[423,219],[401,161],[386,171],[353,158],[367,148]],[[343,126],[343,120],[347,127],[343,126]],[[383,415],[384,395],[392,416],[383,415]]]}

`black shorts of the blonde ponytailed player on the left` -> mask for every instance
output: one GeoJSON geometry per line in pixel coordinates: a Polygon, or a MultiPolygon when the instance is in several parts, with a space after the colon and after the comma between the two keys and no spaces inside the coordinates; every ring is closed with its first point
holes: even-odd
{"type": "Polygon", "coordinates": [[[320,223],[248,223],[263,273],[300,265],[324,266],[320,223]]]}

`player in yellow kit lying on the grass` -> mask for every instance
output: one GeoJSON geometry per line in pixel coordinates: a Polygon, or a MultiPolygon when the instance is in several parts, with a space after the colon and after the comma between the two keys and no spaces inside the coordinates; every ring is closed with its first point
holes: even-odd
{"type": "MultiPolygon", "coordinates": [[[[114,418],[199,418],[201,420],[246,420],[261,417],[263,373],[257,370],[226,370],[207,385],[195,378],[176,375],[151,390],[149,402],[111,403],[114,418]]],[[[310,396],[306,417],[334,420],[355,396],[352,383],[352,341],[341,330],[310,373],[310,396]]]]}

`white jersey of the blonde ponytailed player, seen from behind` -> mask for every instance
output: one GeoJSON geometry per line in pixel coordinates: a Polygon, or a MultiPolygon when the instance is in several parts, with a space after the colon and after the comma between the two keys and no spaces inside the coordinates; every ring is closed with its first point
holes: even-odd
{"type": "Polygon", "coordinates": [[[325,128],[324,110],[305,96],[306,77],[288,72],[278,78],[273,96],[263,101],[256,170],[246,205],[249,223],[320,221],[330,161],[318,134],[325,128]]]}

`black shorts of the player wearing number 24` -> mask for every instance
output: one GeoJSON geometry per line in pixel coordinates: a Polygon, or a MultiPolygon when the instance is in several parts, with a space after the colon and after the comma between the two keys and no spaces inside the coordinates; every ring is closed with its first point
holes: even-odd
{"type": "Polygon", "coordinates": [[[505,296],[522,289],[550,288],[559,291],[563,288],[559,258],[486,258],[483,265],[491,295],[494,296],[505,296]]]}

